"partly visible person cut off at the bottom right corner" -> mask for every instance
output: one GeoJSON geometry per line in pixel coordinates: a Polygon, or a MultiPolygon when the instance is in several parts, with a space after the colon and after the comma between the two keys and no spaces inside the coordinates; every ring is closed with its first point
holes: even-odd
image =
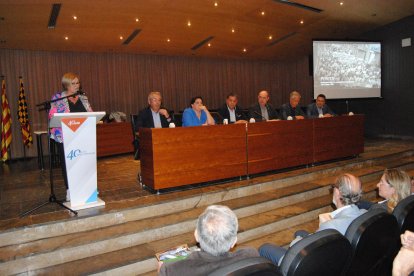
{"type": "Polygon", "coordinates": [[[393,276],[414,275],[414,233],[405,231],[401,235],[401,249],[392,265],[393,276]],[[411,273],[411,274],[410,274],[411,273]]]}

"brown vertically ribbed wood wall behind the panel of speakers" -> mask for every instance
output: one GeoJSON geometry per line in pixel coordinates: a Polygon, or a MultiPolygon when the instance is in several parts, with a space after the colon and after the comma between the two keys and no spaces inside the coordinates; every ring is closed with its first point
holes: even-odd
{"type": "MultiPolygon", "coordinates": [[[[137,113],[147,105],[147,94],[160,91],[164,105],[174,111],[188,106],[190,98],[201,95],[208,108],[218,108],[234,92],[239,104],[248,107],[257,92],[267,89],[271,103],[280,106],[292,90],[302,92],[303,105],[311,101],[312,78],[308,58],[275,63],[170,56],[143,56],[122,53],[42,52],[0,49],[0,75],[4,75],[13,115],[12,157],[23,156],[17,121],[19,76],[23,77],[33,130],[46,129],[44,112],[36,104],[49,100],[61,90],[65,72],[76,72],[96,111],[137,113]]],[[[131,138],[132,139],[132,138],[131,138]]],[[[36,155],[35,147],[27,152],[36,155]]]]}

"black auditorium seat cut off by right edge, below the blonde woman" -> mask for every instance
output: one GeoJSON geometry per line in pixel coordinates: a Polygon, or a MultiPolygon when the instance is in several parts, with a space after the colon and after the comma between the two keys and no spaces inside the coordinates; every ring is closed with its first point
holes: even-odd
{"type": "Polygon", "coordinates": [[[401,200],[392,214],[397,219],[401,233],[404,233],[405,230],[414,231],[414,195],[401,200]]]}

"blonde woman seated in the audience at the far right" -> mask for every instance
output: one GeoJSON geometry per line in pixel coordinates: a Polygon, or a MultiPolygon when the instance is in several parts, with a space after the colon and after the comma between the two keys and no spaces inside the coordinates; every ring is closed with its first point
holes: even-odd
{"type": "Polygon", "coordinates": [[[406,198],[411,193],[411,180],[405,171],[399,169],[386,169],[377,184],[380,197],[385,200],[373,204],[371,202],[362,202],[360,208],[384,208],[392,212],[400,200],[406,198]]]}

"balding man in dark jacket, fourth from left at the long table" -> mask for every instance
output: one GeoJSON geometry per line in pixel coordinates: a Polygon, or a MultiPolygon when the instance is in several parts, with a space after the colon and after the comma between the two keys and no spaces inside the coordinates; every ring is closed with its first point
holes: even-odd
{"type": "Polygon", "coordinates": [[[249,108],[249,117],[254,118],[256,122],[279,119],[277,111],[268,103],[269,99],[269,92],[260,91],[257,95],[257,104],[249,108]]]}

